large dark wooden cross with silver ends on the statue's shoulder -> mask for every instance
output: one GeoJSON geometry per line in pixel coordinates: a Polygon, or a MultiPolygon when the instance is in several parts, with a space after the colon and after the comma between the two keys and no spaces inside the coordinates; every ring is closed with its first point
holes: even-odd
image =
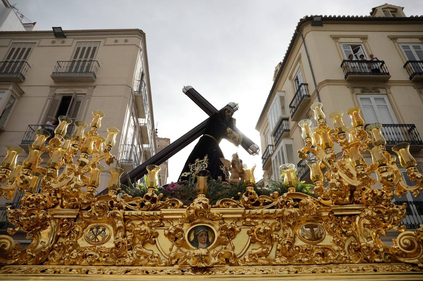
{"type": "MultiPolygon", "coordinates": [[[[194,88],[192,88],[192,86],[185,86],[182,91],[185,95],[190,97],[190,99],[194,101],[195,104],[197,104],[201,109],[203,109],[203,111],[205,111],[209,116],[218,111],[213,105],[211,105],[211,103],[209,103],[202,95],[200,95],[200,93],[198,93],[194,88]]],[[[185,146],[192,143],[199,136],[203,135],[203,132],[206,129],[207,120],[208,119],[204,120],[203,122],[195,126],[193,129],[191,129],[189,132],[187,132],[185,135],[181,136],[173,143],[170,143],[168,147],[162,149],[153,157],[147,159],[146,162],[142,163],[137,168],[130,171],[127,176],[122,176],[121,184],[128,184],[128,177],[132,182],[142,178],[147,173],[146,168],[148,165],[162,164],[167,159],[176,154],[178,151],[183,149],[185,146]]],[[[242,135],[241,146],[251,155],[258,154],[258,145],[255,144],[252,140],[250,140],[250,138],[248,138],[244,134],[242,135]]]]}

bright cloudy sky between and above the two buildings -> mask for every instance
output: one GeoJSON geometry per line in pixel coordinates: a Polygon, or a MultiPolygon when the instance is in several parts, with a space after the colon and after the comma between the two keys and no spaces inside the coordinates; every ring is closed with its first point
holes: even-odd
{"type": "MultiPolygon", "coordinates": [[[[255,143],[254,129],[269,90],[275,66],[282,61],[300,18],[310,14],[368,15],[385,0],[9,0],[40,30],[138,28],[146,32],[154,122],[160,137],[176,140],[207,118],[181,89],[192,85],[216,108],[239,103],[237,126],[255,143]]],[[[390,0],[407,16],[423,14],[422,0],[390,0]]],[[[176,181],[197,140],[169,160],[168,182],[176,181]]],[[[227,159],[238,152],[226,140],[227,159]]]]}

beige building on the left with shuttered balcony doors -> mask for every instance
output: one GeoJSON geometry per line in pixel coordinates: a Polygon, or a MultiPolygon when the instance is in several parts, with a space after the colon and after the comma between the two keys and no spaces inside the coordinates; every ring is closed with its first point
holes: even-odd
{"type": "MultiPolygon", "coordinates": [[[[51,129],[46,122],[66,115],[90,124],[96,109],[105,113],[100,135],[107,136],[107,127],[120,130],[112,166],[129,172],[156,153],[142,30],[0,32],[0,57],[0,157],[5,146],[14,144],[24,149],[18,157],[22,161],[35,130],[51,129]]],[[[73,129],[70,124],[67,135],[73,129]]],[[[41,157],[48,159],[46,153],[41,157]]],[[[110,172],[102,174],[98,193],[104,192],[110,172]]],[[[10,202],[0,200],[5,216],[10,202]]],[[[19,196],[11,203],[18,205],[19,196]]]]}

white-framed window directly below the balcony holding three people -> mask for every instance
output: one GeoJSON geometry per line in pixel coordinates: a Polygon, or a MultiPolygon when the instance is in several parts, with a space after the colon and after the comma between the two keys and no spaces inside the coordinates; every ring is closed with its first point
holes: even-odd
{"type": "Polygon", "coordinates": [[[397,124],[386,95],[357,95],[366,123],[397,124]]]}

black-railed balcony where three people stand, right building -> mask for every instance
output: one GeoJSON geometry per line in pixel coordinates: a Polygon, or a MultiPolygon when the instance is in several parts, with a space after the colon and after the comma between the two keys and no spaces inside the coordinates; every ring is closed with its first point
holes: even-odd
{"type": "Polygon", "coordinates": [[[388,81],[388,68],[383,60],[348,60],[344,59],[341,68],[346,81],[366,82],[366,81],[388,81]]]}

